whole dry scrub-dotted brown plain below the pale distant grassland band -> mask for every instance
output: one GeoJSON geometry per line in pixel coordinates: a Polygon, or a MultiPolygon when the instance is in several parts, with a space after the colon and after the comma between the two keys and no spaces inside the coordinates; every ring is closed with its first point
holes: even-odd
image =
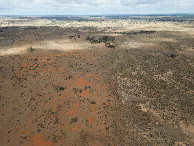
{"type": "Polygon", "coordinates": [[[193,145],[193,28],[176,26],[0,28],[0,145],[193,145]]]}

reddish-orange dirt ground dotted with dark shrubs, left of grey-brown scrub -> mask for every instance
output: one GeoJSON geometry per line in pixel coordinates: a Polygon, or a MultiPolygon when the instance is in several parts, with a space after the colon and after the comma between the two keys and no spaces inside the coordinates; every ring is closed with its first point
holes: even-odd
{"type": "Polygon", "coordinates": [[[81,51],[3,57],[1,67],[11,75],[1,78],[1,125],[10,131],[3,132],[2,144],[111,144],[104,105],[114,98],[96,60],[81,51]]]}

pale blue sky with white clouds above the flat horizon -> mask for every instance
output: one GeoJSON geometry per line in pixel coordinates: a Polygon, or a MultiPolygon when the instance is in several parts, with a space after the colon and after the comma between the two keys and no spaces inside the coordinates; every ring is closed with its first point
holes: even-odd
{"type": "Polygon", "coordinates": [[[194,13],[194,0],[0,0],[0,15],[194,13]]]}

